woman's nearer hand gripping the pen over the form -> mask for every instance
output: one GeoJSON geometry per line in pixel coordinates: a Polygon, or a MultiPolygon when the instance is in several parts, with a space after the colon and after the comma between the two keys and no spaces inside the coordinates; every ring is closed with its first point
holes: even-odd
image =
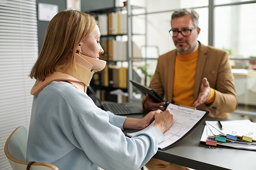
{"type": "Polygon", "coordinates": [[[169,108],[167,108],[165,111],[157,110],[154,114],[155,117],[155,123],[154,127],[157,127],[159,130],[161,130],[162,133],[164,133],[166,130],[168,130],[174,121],[173,113],[169,108]]]}

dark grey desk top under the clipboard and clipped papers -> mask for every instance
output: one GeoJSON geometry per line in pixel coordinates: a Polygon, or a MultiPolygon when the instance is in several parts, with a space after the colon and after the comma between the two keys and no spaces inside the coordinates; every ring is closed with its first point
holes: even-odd
{"type": "MultiPolygon", "coordinates": [[[[143,114],[128,115],[128,117],[141,118],[143,114]]],[[[224,120],[207,117],[205,120],[224,120]]],[[[234,149],[232,147],[216,146],[209,149],[201,143],[205,120],[201,122],[186,138],[168,150],[158,150],[153,158],[172,162],[195,170],[246,170],[256,169],[256,151],[234,149]]],[[[124,130],[131,133],[136,130],[124,130]]]]}

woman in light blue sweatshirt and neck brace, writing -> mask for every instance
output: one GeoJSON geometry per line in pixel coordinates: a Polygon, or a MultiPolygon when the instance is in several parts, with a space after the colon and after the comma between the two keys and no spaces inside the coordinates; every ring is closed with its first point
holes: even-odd
{"type": "Polygon", "coordinates": [[[80,11],[64,10],[50,21],[29,75],[37,81],[31,90],[27,161],[49,162],[60,170],[137,170],[157,152],[173,122],[169,109],[126,118],[101,110],[85,93],[93,73],[106,64],[99,59],[100,37],[96,20],[80,11]],[[154,127],[131,139],[122,133],[153,119],[154,127]]]}

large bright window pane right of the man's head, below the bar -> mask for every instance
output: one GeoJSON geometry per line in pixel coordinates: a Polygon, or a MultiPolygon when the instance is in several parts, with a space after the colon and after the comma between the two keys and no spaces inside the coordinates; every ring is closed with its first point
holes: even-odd
{"type": "Polygon", "coordinates": [[[215,8],[215,47],[232,57],[256,56],[256,3],[215,8]]]}

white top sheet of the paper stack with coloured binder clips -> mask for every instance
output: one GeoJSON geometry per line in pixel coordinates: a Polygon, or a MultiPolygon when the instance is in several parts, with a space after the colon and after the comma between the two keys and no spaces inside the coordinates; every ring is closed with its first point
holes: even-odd
{"type": "Polygon", "coordinates": [[[247,136],[256,140],[256,125],[250,120],[232,120],[232,121],[221,121],[223,130],[220,130],[218,126],[218,121],[205,121],[206,125],[212,130],[214,136],[219,135],[220,133],[227,135],[232,134],[234,136],[247,136]],[[234,134],[234,132],[236,132],[234,134]]]}

